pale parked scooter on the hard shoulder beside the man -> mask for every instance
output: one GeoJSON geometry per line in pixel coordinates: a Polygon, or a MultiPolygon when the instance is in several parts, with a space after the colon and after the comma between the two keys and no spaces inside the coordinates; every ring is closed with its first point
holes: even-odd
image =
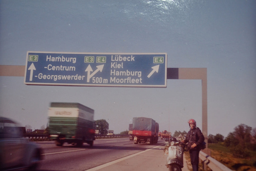
{"type": "Polygon", "coordinates": [[[181,171],[183,168],[183,154],[186,151],[187,144],[177,141],[176,138],[172,137],[168,140],[165,145],[164,154],[167,156],[167,168],[169,171],[181,171]]]}

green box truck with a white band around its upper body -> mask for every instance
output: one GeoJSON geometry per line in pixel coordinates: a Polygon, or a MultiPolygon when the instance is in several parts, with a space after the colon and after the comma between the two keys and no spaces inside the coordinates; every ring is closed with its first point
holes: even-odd
{"type": "Polygon", "coordinates": [[[48,109],[49,138],[57,146],[63,143],[93,145],[95,140],[94,110],[80,103],[51,102],[48,109]]]}

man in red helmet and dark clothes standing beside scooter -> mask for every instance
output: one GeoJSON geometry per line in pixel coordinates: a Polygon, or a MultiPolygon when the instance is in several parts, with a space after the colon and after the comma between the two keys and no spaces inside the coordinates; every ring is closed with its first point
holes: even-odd
{"type": "Polygon", "coordinates": [[[188,143],[193,171],[198,171],[199,152],[201,150],[201,144],[205,141],[205,137],[201,130],[196,127],[196,121],[194,119],[189,119],[188,124],[190,126],[190,130],[187,133],[186,139],[182,140],[182,142],[188,143]]]}

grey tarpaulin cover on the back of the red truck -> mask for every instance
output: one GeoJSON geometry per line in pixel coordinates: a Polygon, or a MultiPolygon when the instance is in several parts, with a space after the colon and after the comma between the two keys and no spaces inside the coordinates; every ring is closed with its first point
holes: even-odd
{"type": "Polygon", "coordinates": [[[156,129],[156,121],[147,117],[134,117],[132,129],[139,131],[153,131],[156,129]]]}

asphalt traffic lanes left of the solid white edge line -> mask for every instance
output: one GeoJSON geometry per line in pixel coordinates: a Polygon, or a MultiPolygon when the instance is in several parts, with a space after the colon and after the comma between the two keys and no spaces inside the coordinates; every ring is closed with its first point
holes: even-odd
{"type": "Polygon", "coordinates": [[[160,139],[157,144],[149,145],[134,144],[129,138],[97,139],[93,147],[86,143],[82,147],[71,144],[58,147],[54,141],[36,143],[43,148],[43,161],[38,168],[41,171],[87,170],[155,146],[165,145],[165,141],[160,139]]]}

